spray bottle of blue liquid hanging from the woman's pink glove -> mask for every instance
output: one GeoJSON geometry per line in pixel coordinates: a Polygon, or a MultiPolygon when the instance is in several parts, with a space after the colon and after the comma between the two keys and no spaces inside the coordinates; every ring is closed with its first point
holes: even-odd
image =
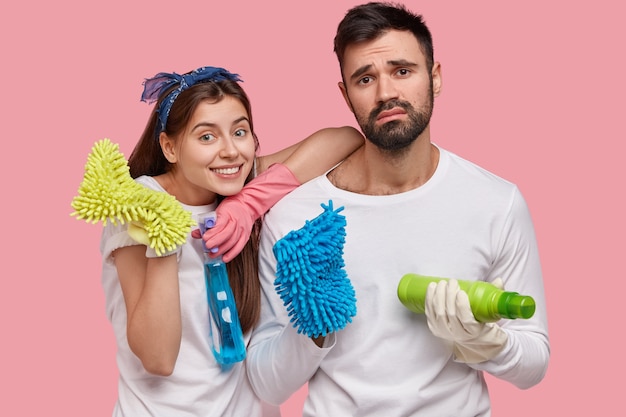
{"type": "MultiPolygon", "coordinates": [[[[200,221],[202,234],[215,226],[215,213],[212,212],[200,221]]],[[[209,249],[204,251],[204,278],[209,303],[211,324],[210,337],[213,355],[221,365],[231,365],[246,357],[235,297],[228,281],[226,264],[222,257],[211,258],[209,249]]]]}

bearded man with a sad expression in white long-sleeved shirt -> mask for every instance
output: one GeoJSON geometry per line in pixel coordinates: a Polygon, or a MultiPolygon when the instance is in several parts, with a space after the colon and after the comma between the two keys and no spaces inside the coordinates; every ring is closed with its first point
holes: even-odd
{"type": "Polygon", "coordinates": [[[266,216],[262,318],[248,350],[257,393],[281,403],[309,382],[305,416],[488,416],[488,372],[520,388],[543,378],[549,342],[534,228],[518,188],[431,143],[441,66],[421,16],[403,6],[351,9],[335,37],[339,88],[365,145],[266,216]],[[274,290],[274,243],[345,207],[345,271],[357,314],[311,340],[274,290]],[[532,318],[467,321],[455,280],[429,288],[426,315],[398,300],[407,273],[494,282],[532,296],[532,318]],[[498,280],[499,281],[499,280],[498,280]]]}

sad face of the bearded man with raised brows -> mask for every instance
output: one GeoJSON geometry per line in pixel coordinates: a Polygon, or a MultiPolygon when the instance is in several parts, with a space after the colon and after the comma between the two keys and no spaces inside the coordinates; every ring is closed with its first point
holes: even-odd
{"type": "Polygon", "coordinates": [[[389,31],[349,46],[344,55],[346,102],[368,140],[381,149],[405,149],[428,127],[441,86],[440,67],[428,71],[410,32],[389,31]]]}

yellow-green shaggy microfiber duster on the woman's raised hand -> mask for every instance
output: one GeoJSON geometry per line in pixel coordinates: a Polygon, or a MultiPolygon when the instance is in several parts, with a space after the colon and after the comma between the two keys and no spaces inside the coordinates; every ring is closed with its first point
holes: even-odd
{"type": "Polygon", "coordinates": [[[185,243],[195,225],[191,213],[173,196],[135,182],[119,145],[109,139],[93,146],[72,208],[71,216],[90,223],[128,222],[131,237],[157,255],[185,243]]]}

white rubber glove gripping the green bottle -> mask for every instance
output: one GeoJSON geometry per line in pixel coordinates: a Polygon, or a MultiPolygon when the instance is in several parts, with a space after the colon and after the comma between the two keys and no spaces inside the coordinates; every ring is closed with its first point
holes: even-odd
{"type": "Polygon", "coordinates": [[[479,363],[496,356],[504,348],[507,334],[495,323],[474,318],[469,298],[456,280],[430,283],[424,309],[430,331],[453,342],[457,361],[479,363]]]}

